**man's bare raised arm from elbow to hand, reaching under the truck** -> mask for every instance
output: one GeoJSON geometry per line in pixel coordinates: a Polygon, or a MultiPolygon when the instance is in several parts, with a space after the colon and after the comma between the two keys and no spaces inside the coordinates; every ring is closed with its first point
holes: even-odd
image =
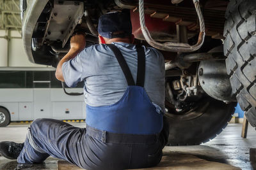
{"type": "Polygon", "coordinates": [[[63,63],[68,60],[74,59],[74,57],[76,57],[77,54],[84,49],[85,45],[86,45],[86,41],[85,41],[84,35],[76,34],[75,36],[72,36],[72,38],[70,39],[70,50],[60,60],[56,68],[55,76],[58,80],[65,81],[62,73],[63,63]]]}

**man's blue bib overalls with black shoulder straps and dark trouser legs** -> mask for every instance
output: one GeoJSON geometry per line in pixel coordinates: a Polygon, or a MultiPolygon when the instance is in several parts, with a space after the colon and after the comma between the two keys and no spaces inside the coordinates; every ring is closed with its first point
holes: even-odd
{"type": "Polygon", "coordinates": [[[109,106],[86,106],[86,129],[53,119],[36,119],[29,127],[20,164],[44,161],[49,155],[84,169],[135,169],[156,166],[162,157],[163,114],[143,88],[145,52],[137,47],[136,84],[122,53],[109,45],[122,68],[128,87],[109,106]]]}

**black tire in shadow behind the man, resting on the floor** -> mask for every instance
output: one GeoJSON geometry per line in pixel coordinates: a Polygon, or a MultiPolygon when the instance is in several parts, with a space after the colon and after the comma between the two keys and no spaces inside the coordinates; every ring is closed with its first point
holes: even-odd
{"type": "Polygon", "coordinates": [[[183,116],[166,113],[167,145],[200,145],[215,138],[227,126],[235,106],[236,103],[225,104],[212,97],[204,97],[198,101],[195,110],[183,116]]]}

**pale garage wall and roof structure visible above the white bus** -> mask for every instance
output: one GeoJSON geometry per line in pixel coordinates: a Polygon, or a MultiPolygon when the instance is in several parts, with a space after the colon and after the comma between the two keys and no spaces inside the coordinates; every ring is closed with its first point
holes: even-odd
{"type": "Polygon", "coordinates": [[[0,67],[47,67],[32,64],[21,38],[19,0],[0,0],[0,67]]]}

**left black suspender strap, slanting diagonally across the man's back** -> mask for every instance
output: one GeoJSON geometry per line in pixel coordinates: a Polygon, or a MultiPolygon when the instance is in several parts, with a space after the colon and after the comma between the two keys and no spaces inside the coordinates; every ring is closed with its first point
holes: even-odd
{"type": "Polygon", "coordinates": [[[122,55],[122,53],[120,52],[120,50],[113,44],[109,44],[108,45],[109,48],[113,51],[113,53],[115,54],[115,57],[125,75],[126,81],[128,85],[135,85],[134,80],[132,78],[132,73],[124,59],[124,56],[122,55]]]}

